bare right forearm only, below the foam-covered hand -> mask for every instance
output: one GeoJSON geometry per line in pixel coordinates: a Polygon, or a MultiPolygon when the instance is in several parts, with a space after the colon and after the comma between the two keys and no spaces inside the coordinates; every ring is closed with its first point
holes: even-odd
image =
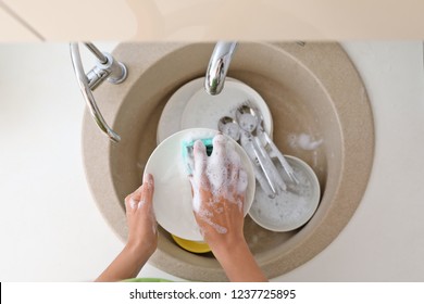
{"type": "Polygon", "coordinates": [[[246,241],[239,242],[233,249],[222,249],[215,253],[215,256],[230,281],[267,281],[246,241]]]}

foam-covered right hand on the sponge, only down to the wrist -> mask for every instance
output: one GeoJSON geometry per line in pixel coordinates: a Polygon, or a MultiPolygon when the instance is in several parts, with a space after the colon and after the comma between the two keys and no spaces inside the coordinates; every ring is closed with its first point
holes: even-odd
{"type": "Polygon", "coordinates": [[[217,135],[211,156],[198,140],[194,147],[195,170],[190,178],[196,220],[214,253],[245,242],[244,203],[247,174],[232,142],[217,135]]]}

